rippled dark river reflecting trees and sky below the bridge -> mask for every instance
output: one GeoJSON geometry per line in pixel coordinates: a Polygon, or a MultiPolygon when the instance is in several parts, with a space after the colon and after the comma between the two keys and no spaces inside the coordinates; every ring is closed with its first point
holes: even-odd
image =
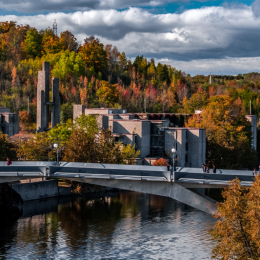
{"type": "Polygon", "coordinates": [[[0,259],[207,259],[210,215],[169,198],[119,193],[24,203],[0,228],[0,259]]]}

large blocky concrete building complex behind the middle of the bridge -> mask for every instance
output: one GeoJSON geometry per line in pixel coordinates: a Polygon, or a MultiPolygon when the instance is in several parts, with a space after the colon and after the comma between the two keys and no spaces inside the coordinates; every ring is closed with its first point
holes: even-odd
{"type": "Polygon", "coordinates": [[[189,114],[127,113],[125,109],[84,108],[74,105],[73,118],[97,115],[100,129],[110,129],[115,141],[135,145],[143,163],[171,156],[175,148],[176,165],[201,167],[206,157],[206,130],[183,127],[189,114]]]}

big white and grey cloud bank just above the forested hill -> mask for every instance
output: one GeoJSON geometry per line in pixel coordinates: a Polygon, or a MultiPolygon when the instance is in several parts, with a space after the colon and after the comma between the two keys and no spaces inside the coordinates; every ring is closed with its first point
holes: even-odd
{"type": "MultiPolygon", "coordinates": [[[[57,19],[58,30],[70,30],[77,39],[96,35],[104,44],[116,45],[128,57],[144,55],[157,60],[168,59],[177,64],[226,64],[260,57],[260,19],[251,7],[207,7],[181,14],[152,14],[139,8],[91,10],[75,13],[50,13],[35,16],[0,16],[37,29],[51,26],[57,19]]],[[[254,64],[259,59],[254,60],[254,64]]],[[[178,68],[178,65],[176,67],[178,68]]],[[[239,66],[239,69],[246,68],[239,66]]],[[[254,70],[257,66],[254,67],[254,70]]],[[[220,66],[218,66],[220,68],[220,66]]],[[[211,69],[214,69],[211,67],[211,69]]],[[[185,70],[185,69],[184,69],[185,70]]],[[[249,69],[251,70],[251,69],[249,69]]],[[[187,70],[188,71],[188,70],[187,70]]],[[[241,71],[240,71],[241,72],[241,71]]],[[[242,71],[243,72],[243,71],[242,71]]],[[[233,74],[236,74],[234,71],[233,74]]]]}

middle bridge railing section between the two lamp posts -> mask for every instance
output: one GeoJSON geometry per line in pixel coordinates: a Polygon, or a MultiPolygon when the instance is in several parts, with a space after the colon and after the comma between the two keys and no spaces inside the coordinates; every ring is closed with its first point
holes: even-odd
{"type": "Polygon", "coordinates": [[[169,171],[156,170],[127,170],[127,169],[102,169],[102,168],[83,168],[83,167],[59,167],[50,166],[49,174],[51,177],[67,177],[67,178],[141,178],[145,180],[162,179],[162,181],[170,181],[169,171]]]}

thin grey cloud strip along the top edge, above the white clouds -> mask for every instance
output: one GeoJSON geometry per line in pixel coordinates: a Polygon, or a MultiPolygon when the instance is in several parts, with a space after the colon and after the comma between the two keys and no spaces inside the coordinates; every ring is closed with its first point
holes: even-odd
{"type": "MultiPolygon", "coordinates": [[[[55,11],[86,11],[89,9],[124,9],[132,6],[159,6],[171,2],[191,0],[0,0],[1,9],[24,13],[55,11]]],[[[205,2],[208,0],[195,0],[205,2]]]]}

